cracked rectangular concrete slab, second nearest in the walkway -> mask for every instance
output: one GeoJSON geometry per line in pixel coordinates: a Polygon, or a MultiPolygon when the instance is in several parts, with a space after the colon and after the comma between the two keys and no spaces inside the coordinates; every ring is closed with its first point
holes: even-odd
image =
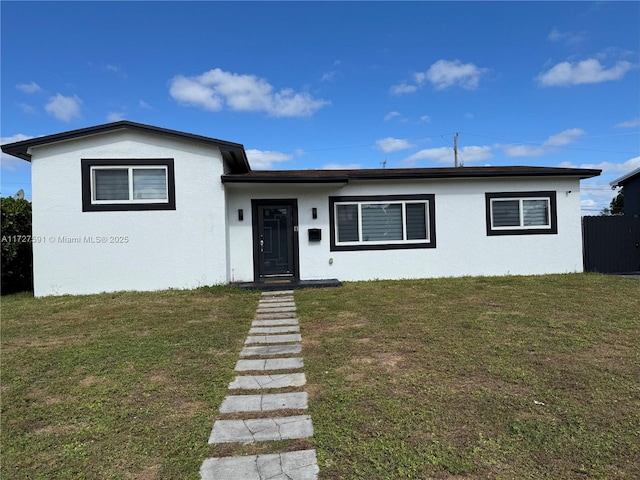
{"type": "Polygon", "coordinates": [[[309,415],[249,420],[216,420],[209,437],[209,443],[254,443],[311,436],[313,436],[313,425],[309,415]]]}

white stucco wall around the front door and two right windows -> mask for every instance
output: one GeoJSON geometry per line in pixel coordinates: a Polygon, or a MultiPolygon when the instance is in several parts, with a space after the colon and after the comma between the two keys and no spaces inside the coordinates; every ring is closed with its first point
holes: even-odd
{"type": "Polygon", "coordinates": [[[321,185],[227,184],[232,281],[253,280],[251,199],[297,198],[300,278],[370,280],[464,275],[523,275],[582,271],[580,191],[577,179],[491,179],[352,182],[321,185]],[[485,193],[556,191],[555,235],[487,236],[485,193]],[[570,193],[568,193],[570,192],[570,193]],[[436,248],[330,251],[329,196],[435,194],[436,248]],[[318,209],[312,219],[311,209],[318,209]],[[237,210],[244,210],[244,221],[237,210]],[[321,228],[309,242],[307,229],[321,228]]]}

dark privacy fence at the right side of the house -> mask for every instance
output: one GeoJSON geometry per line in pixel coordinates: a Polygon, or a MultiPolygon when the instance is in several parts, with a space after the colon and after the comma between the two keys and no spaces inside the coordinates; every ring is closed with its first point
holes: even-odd
{"type": "Polygon", "coordinates": [[[636,215],[582,217],[584,270],[640,272],[640,218],[636,215]]]}

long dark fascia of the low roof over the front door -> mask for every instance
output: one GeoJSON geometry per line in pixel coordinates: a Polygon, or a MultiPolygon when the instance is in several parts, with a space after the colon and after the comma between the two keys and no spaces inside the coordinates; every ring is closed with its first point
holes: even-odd
{"type": "Polygon", "coordinates": [[[503,177],[597,177],[602,171],[554,167],[463,167],[363,170],[253,171],[245,175],[223,175],[223,183],[348,183],[353,180],[423,180],[503,177]]]}

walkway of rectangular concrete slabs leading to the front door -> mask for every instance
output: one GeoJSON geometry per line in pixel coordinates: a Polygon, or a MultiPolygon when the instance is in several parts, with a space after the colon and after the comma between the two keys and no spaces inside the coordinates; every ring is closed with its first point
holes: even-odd
{"type": "MultiPolygon", "coordinates": [[[[263,292],[251,330],[235,370],[241,375],[229,383],[220,414],[232,419],[216,420],[210,444],[254,443],[308,438],[313,424],[307,409],[307,382],[303,372],[302,337],[293,291],[263,292]],[[286,373],[280,373],[280,372],[286,373]],[[273,372],[273,373],[272,373],[273,372]],[[274,389],[287,388],[285,393],[274,389]],[[269,390],[268,392],[261,392],[269,390]],[[245,391],[249,391],[245,394],[245,391]],[[300,414],[281,416],[280,410],[300,414]],[[255,418],[256,414],[262,415],[255,418]],[[238,418],[244,416],[246,418],[238,418]]],[[[287,412],[289,413],[289,412],[287,412]]],[[[202,480],[312,480],[318,478],[315,450],[275,452],[238,457],[208,458],[200,467],[202,480]]]]}

